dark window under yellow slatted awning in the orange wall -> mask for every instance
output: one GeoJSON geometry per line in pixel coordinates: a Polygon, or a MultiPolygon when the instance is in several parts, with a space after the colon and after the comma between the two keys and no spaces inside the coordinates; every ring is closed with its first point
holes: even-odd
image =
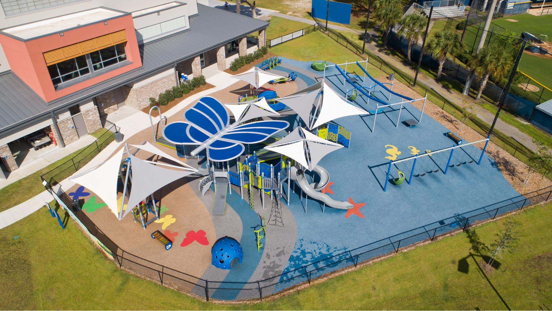
{"type": "Polygon", "coordinates": [[[126,60],[125,46],[124,43],[119,43],[50,65],[48,66],[48,71],[50,72],[52,83],[58,85],[90,72],[102,70],[124,60],[126,60]]]}

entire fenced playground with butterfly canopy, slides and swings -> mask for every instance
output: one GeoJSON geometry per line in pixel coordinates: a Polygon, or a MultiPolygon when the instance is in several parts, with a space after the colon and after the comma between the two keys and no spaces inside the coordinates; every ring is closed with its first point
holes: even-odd
{"type": "MultiPolygon", "coordinates": [[[[235,84],[162,124],[152,111],[152,128],[110,158],[116,197],[87,180],[104,166],[112,174],[109,160],[63,190],[81,200],[79,212],[113,245],[210,284],[286,281],[289,274],[280,274],[519,199],[484,153],[485,138],[459,137],[423,113],[423,96],[393,91],[392,80],[370,77],[364,63],[272,64],[236,75],[235,84]],[[273,77],[257,91],[258,78],[238,77],[248,72],[273,77]],[[332,105],[338,108],[328,111],[332,105]]],[[[227,284],[209,296],[248,299],[245,284],[231,291],[227,284]]],[[[263,295],[295,284],[281,282],[263,295]]],[[[198,296],[203,290],[189,289],[198,296]]]]}

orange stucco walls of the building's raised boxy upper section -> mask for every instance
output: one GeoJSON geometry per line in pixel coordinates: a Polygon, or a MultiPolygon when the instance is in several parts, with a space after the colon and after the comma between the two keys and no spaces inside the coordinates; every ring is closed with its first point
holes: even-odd
{"type": "Polygon", "coordinates": [[[103,22],[99,22],[77,29],[67,30],[63,32],[63,36],[60,36],[60,34],[52,34],[27,42],[22,42],[0,33],[0,44],[2,44],[2,48],[4,49],[4,53],[6,53],[6,58],[8,59],[12,71],[47,102],[70,95],[86,87],[142,66],[131,15],[110,19],[107,21],[107,25],[104,25],[103,22]],[[44,52],[96,38],[104,34],[113,33],[121,29],[126,30],[126,38],[128,40],[125,44],[126,56],[132,64],[86,79],[59,91],[54,89],[54,85],[52,84],[50,74],[46,67],[46,61],[44,60],[44,52]]]}

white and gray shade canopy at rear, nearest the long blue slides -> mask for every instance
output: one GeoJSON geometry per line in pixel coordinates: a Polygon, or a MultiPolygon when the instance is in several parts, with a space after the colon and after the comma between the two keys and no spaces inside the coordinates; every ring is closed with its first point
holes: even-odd
{"type": "Polygon", "coordinates": [[[280,97],[278,101],[297,112],[309,129],[337,118],[369,114],[364,109],[348,103],[323,81],[280,97]]]}

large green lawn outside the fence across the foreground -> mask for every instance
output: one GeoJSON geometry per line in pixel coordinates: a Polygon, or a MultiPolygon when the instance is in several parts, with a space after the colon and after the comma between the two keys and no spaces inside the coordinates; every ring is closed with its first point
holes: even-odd
{"type": "Polygon", "coordinates": [[[73,221],[62,230],[42,208],[0,230],[0,309],[548,308],[552,305],[552,204],[509,217],[523,224],[520,246],[517,252],[498,258],[500,267],[487,276],[480,271],[480,255],[472,242],[490,245],[502,220],[271,302],[213,304],[119,269],[73,221]]]}

